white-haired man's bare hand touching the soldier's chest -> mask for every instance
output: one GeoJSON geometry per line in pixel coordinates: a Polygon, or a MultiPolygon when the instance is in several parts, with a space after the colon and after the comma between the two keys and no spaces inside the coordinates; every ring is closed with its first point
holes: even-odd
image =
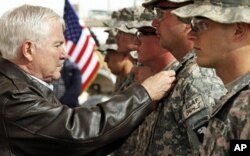
{"type": "Polygon", "coordinates": [[[167,95],[174,80],[175,72],[173,70],[161,71],[147,78],[141,85],[147,90],[152,101],[158,101],[167,95]]]}

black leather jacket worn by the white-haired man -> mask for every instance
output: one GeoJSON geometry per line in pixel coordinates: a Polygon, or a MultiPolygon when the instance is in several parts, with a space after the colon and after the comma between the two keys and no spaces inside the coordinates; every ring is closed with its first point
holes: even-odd
{"type": "Polygon", "coordinates": [[[68,108],[5,59],[0,86],[1,156],[88,155],[127,136],[153,109],[141,85],[91,109],[68,108]]]}

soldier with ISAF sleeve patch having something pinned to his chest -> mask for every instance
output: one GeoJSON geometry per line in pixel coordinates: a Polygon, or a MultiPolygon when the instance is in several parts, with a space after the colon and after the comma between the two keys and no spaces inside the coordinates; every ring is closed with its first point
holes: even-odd
{"type": "MultiPolygon", "coordinates": [[[[222,81],[213,69],[201,68],[196,63],[193,40],[187,34],[189,24],[182,23],[173,9],[192,3],[190,0],[151,0],[143,6],[153,9],[156,17],[152,25],[156,28],[160,44],[168,49],[180,62],[175,69],[177,81],[157,109],[154,118],[146,118],[152,125],[144,142],[141,155],[195,155],[198,154],[209,113],[215,100],[225,94],[222,81]]],[[[141,140],[141,138],[138,138],[141,140]]]]}

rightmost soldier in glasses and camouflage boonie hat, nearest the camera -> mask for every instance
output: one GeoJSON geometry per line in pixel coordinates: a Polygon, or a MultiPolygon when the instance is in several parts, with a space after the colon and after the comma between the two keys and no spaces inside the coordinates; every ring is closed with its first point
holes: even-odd
{"type": "Polygon", "coordinates": [[[192,19],[189,36],[195,39],[197,63],[215,68],[228,90],[210,114],[204,156],[230,155],[230,140],[250,139],[249,13],[250,1],[245,0],[195,0],[174,11],[192,19]]]}

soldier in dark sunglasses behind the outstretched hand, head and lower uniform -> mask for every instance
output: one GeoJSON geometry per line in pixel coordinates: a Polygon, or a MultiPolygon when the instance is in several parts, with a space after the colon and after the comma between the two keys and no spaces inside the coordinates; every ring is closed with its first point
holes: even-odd
{"type": "MultiPolygon", "coordinates": [[[[148,76],[162,71],[164,68],[178,64],[174,56],[160,46],[159,38],[156,36],[156,29],[151,25],[154,18],[153,11],[145,9],[138,19],[127,24],[130,29],[136,29],[138,44],[138,62],[142,66],[134,67],[136,81],[141,82],[148,76]],[[157,62],[157,63],[156,63],[157,62]],[[139,75],[140,74],[140,75],[139,75]]],[[[149,142],[147,135],[152,130],[151,118],[155,118],[157,112],[150,114],[150,117],[143,122],[126,140],[120,149],[113,153],[114,156],[135,156],[144,155],[144,142],[149,142]],[[141,143],[140,143],[141,142],[141,143]],[[141,146],[143,145],[143,146],[141,146]]]]}

